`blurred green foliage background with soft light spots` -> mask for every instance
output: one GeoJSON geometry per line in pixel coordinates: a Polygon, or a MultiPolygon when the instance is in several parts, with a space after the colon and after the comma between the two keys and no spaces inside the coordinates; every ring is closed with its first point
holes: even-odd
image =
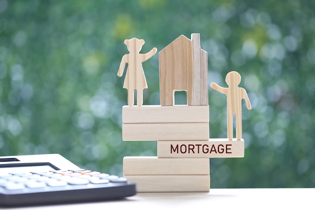
{"type": "MultiPolygon", "coordinates": [[[[253,106],[245,158],[211,159],[211,187],[315,187],[314,1],[0,0],[0,155],[59,153],[119,175],[124,156],[156,155],[154,141],[122,141],[123,41],[160,51],[191,33],[209,83],[238,71],[253,106]]],[[[160,103],[158,59],[143,63],[146,105],[160,103]]],[[[210,137],[226,137],[225,96],[209,88],[209,105],[210,137]]]]}

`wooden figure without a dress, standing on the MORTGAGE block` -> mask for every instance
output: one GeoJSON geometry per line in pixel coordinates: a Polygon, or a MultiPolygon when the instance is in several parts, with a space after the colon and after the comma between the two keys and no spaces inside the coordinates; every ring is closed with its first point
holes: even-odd
{"type": "Polygon", "coordinates": [[[242,99],[245,100],[249,110],[252,109],[252,106],[246,90],[239,87],[241,75],[238,72],[229,72],[225,82],[228,88],[222,88],[215,83],[211,83],[210,87],[226,95],[227,138],[230,140],[233,138],[233,115],[235,115],[236,137],[240,140],[242,138],[242,99]]]}

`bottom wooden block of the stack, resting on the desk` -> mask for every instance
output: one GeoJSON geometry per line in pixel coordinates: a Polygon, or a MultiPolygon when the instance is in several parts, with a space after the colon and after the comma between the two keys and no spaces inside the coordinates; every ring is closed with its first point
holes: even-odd
{"type": "Polygon", "coordinates": [[[209,192],[210,175],[125,175],[137,192],[209,192]]]}

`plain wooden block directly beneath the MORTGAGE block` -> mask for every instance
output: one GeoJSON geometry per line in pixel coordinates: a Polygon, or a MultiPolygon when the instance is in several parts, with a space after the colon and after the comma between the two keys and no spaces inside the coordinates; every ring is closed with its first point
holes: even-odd
{"type": "Polygon", "coordinates": [[[124,175],[208,175],[209,158],[124,157],[124,175]]]}

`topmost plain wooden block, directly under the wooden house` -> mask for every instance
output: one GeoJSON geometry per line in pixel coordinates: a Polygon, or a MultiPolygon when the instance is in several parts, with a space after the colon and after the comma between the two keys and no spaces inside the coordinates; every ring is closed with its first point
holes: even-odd
{"type": "Polygon", "coordinates": [[[209,106],[123,106],[123,123],[209,122],[209,106]]]}

